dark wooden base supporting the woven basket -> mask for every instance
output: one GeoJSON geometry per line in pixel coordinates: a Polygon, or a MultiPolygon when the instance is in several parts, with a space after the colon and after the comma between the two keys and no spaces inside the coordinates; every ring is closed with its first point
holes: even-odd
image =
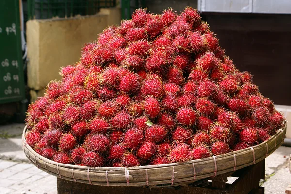
{"type": "Polygon", "coordinates": [[[265,178],[265,160],[238,170],[218,175],[188,186],[175,188],[106,187],[76,183],[57,178],[58,194],[264,194],[259,181],[265,178]],[[227,184],[227,177],[238,177],[227,184]],[[211,181],[209,181],[211,180],[211,181]]]}

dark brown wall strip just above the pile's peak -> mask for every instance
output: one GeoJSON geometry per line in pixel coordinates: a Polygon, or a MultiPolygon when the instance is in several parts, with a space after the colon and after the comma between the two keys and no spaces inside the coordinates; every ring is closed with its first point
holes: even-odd
{"type": "Polygon", "coordinates": [[[180,13],[187,6],[197,8],[197,0],[146,0],[145,6],[150,13],[161,13],[169,7],[180,13]]]}

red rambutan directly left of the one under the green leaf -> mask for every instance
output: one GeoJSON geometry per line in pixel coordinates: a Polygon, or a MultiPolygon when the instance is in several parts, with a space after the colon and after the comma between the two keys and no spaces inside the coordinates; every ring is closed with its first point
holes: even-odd
{"type": "Polygon", "coordinates": [[[143,138],[143,130],[131,128],[122,134],[122,145],[124,145],[126,148],[135,149],[143,142],[143,138]]]}

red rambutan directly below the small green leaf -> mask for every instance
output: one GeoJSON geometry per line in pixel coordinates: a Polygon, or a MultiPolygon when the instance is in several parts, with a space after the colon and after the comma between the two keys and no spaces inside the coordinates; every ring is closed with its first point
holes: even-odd
{"type": "Polygon", "coordinates": [[[159,143],[164,140],[167,135],[167,130],[164,126],[152,125],[146,129],[145,137],[147,141],[159,143]]]}

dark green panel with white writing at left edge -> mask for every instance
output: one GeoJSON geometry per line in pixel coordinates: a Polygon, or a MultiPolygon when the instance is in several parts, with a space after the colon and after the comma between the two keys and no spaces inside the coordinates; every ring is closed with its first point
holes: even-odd
{"type": "Polygon", "coordinates": [[[0,0],[0,103],[24,99],[18,0],[0,0]]]}

